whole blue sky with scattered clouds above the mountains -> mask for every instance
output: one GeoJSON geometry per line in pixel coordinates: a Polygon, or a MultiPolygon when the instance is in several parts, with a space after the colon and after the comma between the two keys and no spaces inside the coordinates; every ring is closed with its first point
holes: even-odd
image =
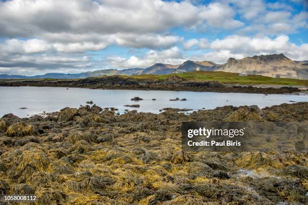
{"type": "Polygon", "coordinates": [[[283,53],[308,60],[308,1],[0,1],[0,74],[283,53]]]}

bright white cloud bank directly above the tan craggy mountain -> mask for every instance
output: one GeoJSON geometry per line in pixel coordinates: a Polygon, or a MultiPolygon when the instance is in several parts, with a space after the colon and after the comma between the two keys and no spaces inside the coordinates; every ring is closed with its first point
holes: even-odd
{"type": "Polygon", "coordinates": [[[209,48],[211,52],[192,56],[192,58],[225,63],[229,57],[244,58],[253,55],[283,53],[292,60],[308,59],[308,44],[299,46],[293,44],[286,35],[276,38],[232,35],[212,41],[209,48]]]}

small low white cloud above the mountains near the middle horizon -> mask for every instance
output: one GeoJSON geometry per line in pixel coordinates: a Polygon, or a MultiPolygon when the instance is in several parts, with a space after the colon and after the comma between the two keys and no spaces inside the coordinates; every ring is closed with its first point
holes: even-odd
{"type": "Polygon", "coordinates": [[[149,67],[155,63],[181,64],[185,61],[183,53],[178,47],[172,47],[163,51],[150,50],[144,56],[120,56],[107,57],[106,61],[115,68],[149,67]]]}

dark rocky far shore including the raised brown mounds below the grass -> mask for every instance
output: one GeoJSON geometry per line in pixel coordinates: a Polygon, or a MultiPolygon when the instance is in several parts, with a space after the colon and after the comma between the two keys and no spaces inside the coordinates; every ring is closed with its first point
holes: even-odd
{"type": "Polygon", "coordinates": [[[165,80],[137,79],[132,77],[106,76],[78,80],[1,80],[0,86],[48,86],[84,87],[91,89],[140,89],[140,90],[178,90],[204,92],[240,92],[281,94],[300,92],[297,87],[257,87],[249,85],[226,85],[218,81],[192,81],[178,76],[165,80]]]}

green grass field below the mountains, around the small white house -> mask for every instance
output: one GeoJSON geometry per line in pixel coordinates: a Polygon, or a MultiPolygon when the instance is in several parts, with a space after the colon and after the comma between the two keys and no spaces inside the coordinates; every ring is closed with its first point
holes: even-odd
{"type": "Polygon", "coordinates": [[[126,76],[138,79],[158,79],[163,80],[170,76],[178,75],[185,79],[193,79],[195,81],[217,80],[226,84],[276,84],[276,85],[304,85],[308,86],[308,80],[298,80],[290,78],[272,78],[261,75],[239,76],[238,73],[219,72],[219,71],[197,71],[188,73],[177,73],[169,75],[135,75],[126,76]]]}

